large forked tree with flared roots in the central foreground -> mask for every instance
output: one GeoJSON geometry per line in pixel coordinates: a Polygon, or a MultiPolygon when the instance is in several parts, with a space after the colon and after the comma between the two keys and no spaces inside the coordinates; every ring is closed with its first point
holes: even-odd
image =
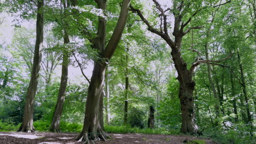
{"type": "MultiPolygon", "coordinates": [[[[95,2],[97,3],[98,9],[106,11],[106,0],[95,0],[95,2]]],[[[91,47],[98,51],[98,56],[100,58],[94,61],[94,70],[92,71],[91,81],[88,88],[88,96],[86,100],[84,127],[82,133],[80,133],[80,135],[77,137],[77,140],[82,139],[82,141],[85,143],[94,143],[94,141],[97,140],[104,141],[108,137],[101,128],[99,121],[100,100],[106,66],[109,59],[113,56],[119,40],[121,39],[121,35],[127,20],[130,2],[131,0],[123,1],[117,25],[115,26],[112,37],[108,41],[107,45],[105,45],[106,19],[104,19],[104,17],[98,16],[97,35],[95,38],[89,39],[91,42],[91,47]]]]}

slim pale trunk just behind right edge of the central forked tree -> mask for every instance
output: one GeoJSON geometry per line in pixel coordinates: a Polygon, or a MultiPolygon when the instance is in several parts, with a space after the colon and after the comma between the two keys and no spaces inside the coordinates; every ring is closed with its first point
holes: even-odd
{"type": "Polygon", "coordinates": [[[109,111],[108,111],[108,104],[109,104],[109,85],[108,85],[108,66],[106,66],[105,70],[105,123],[109,125],[109,111]]]}

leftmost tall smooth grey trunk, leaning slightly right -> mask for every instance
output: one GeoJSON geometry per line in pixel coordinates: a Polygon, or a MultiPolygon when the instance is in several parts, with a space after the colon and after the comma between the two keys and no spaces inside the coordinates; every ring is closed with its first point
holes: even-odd
{"type": "Polygon", "coordinates": [[[33,132],[34,99],[36,96],[40,62],[43,48],[43,28],[44,28],[44,0],[37,1],[37,24],[36,24],[36,44],[34,46],[33,67],[30,78],[30,85],[27,89],[26,104],[22,124],[18,131],[33,132]]]}

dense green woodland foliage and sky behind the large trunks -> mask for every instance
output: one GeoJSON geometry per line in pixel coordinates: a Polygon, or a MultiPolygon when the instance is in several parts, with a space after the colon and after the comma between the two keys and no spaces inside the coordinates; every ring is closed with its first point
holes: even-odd
{"type": "Polygon", "coordinates": [[[17,130],[24,122],[38,34],[36,19],[44,14],[42,62],[32,112],[37,131],[82,131],[92,67],[104,61],[99,121],[105,131],[184,132],[181,104],[185,102],[180,100],[179,75],[183,72],[177,72],[178,63],[171,54],[175,51],[172,44],[180,37],[175,32],[183,32],[177,52],[186,69],[194,68],[189,74],[195,82],[191,106],[197,134],[219,143],[255,140],[254,0],[131,1],[123,35],[111,59],[101,56],[102,51],[93,46],[94,38],[100,31],[98,23],[106,20],[103,43],[112,41],[123,1],[107,1],[106,10],[99,8],[97,1],[45,0],[44,8],[39,9],[40,2],[1,1],[1,131],[17,130]],[[179,16],[176,31],[174,23],[179,16]],[[168,43],[168,38],[173,43],[168,43]],[[63,111],[60,108],[60,128],[54,129],[54,112],[61,103],[57,103],[58,95],[65,102],[63,111]]]}

